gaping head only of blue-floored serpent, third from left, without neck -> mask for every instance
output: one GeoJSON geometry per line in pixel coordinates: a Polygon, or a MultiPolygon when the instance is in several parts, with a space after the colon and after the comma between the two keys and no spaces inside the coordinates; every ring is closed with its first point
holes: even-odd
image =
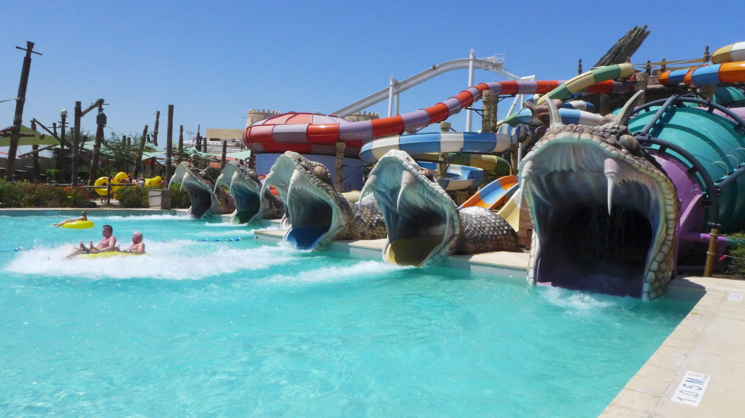
{"type": "Polygon", "coordinates": [[[275,186],[285,201],[291,227],[285,241],[299,250],[315,250],[328,244],[343,229],[349,202],[329,183],[329,171],[298,153],[279,156],[264,179],[261,193],[275,186]],[[346,214],[346,215],[345,215],[346,214]]]}

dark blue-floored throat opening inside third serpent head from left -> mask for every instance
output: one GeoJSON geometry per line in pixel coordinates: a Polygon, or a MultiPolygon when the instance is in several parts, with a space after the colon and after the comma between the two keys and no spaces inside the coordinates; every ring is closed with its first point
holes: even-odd
{"type": "Polygon", "coordinates": [[[292,229],[287,241],[299,250],[311,249],[331,229],[334,209],[331,203],[303,189],[294,189],[288,200],[292,229]]]}

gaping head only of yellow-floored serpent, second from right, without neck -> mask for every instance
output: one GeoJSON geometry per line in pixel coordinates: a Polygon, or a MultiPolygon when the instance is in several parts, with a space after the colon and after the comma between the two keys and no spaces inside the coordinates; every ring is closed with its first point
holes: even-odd
{"type": "Polygon", "coordinates": [[[385,219],[387,262],[422,266],[447,256],[457,240],[457,208],[407,153],[390,151],[378,160],[361,197],[371,193],[385,219]]]}

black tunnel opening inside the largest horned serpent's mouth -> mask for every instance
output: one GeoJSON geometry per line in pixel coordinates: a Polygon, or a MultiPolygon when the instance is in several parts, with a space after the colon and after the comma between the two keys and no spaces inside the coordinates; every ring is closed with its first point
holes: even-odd
{"type": "Polygon", "coordinates": [[[573,290],[641,297],[653,241],[635,209],[604,205],[559,209],[542,240],[537,281],[573,290]]]}

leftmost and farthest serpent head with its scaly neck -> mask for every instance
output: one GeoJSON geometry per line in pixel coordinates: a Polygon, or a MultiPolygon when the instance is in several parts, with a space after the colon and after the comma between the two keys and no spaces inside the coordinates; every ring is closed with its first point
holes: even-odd
{"type": "Polygon", "coordinates": [[[221,187],[215,187],[215,183],[199,171],[190,162],[181,162],[171,183],[181,183],[191,198],[191,207],[188,214],[193,218],[204,218],[209,215],[225,215],[235,210],[235,200],[221,187]]]}

